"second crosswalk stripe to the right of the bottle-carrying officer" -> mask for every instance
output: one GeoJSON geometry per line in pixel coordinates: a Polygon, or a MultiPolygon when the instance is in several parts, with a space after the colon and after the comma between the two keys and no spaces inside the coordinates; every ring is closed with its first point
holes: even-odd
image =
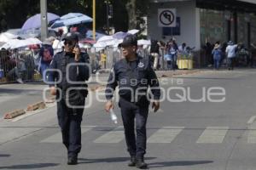
{"type": "Polygon", "coordinates": [[[220,144],[223,142],[229,127],[207,127],[196,141],[198,144],[220,144]]]}

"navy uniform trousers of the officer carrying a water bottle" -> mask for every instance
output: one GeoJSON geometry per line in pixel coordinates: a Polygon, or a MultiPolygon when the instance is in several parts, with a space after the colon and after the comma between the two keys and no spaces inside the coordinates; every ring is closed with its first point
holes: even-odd
{"type": "Polygon", "coordinates": [[[131,156],[142,158],[146,153],[148,105],[138,106],[120,98],[119,107],[125,128],[127,150],[131,156]],[[134,122],[136,122],[137,136],[135,136],[134,122]]]}

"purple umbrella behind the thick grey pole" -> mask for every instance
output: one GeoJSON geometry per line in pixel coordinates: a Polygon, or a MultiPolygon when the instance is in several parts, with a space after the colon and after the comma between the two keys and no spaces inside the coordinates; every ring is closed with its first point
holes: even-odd
{"type": "MultiPolygon", "coordinates": [[[[58,16],[56,14],[47,13],[48,24],[50,22],[58,20],[59,18],[60,18],[60,16],[58,16]]],[[[41,27],[41,14],[35,14],[26,20],[26,22],[21,27],[21,31],[36,29],[39,27],[41,27]]]]}

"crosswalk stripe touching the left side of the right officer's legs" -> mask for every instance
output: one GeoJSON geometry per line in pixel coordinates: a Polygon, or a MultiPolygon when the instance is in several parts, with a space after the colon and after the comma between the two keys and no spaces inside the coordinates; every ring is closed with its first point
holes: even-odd
{"type": "Polygon", "coordinates": [[[123,127],[117,127],[109,133],[103,134],[101,137],[94,140],[94,143],[119,143],[125,139],[123,127]]]}

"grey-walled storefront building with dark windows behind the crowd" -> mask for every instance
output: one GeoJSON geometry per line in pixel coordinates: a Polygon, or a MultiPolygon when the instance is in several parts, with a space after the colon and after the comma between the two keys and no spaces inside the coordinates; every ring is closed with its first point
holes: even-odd
{"type": "Polygon", "coordinates": [[[186,42],[196,50],[206,42],[256,43],[256,2],[253,0],[151,0],[148,37],[178,44],[186,42]],[[175,8],[174,27],[158,26],[159,9],[175,8]]]}

